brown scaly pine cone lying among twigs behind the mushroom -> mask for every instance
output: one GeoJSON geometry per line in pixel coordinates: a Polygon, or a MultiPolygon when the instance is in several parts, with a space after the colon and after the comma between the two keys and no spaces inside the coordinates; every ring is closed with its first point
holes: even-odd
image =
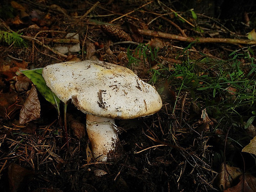
{"type": "Polygon", "coordinates": [[[118,28],[116,26],[111,25],[101,25],[101,30],[106,33],[107,35],[112,36],[116,40],[125,40],[125,41],[131,41],[132,38],[128,33],[123,31],[121,28],[118,28]]]}

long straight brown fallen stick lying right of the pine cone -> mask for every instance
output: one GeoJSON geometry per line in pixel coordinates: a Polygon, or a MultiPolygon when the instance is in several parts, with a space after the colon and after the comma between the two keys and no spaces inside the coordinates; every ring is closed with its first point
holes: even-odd
{"type": "Polygon", "coordinates": [[[256,40],[249,40],[249,39],[231,39],[231,38],[204,38],[204,37],[184,37],[173,35],[170,33],[162,33],[159,31],[150,31],[150,30],[142,30],[138,29],[139,33],[143,36],[152,36],[158,38],[165,38],[171,40],[178,40],[178,41],[186,41],[188,43],[229,43],[229,44],[249,44],[249,45],[256,45],[256,40]]]}

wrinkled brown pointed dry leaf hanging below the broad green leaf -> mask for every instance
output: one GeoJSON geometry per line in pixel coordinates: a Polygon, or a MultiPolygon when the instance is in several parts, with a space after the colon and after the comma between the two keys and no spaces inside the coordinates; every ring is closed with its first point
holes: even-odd
{"type": "Polygon", "coordinates": [[[36,87],[33,85],[19,114],[19,123],[24,124],[40,118],[40,111],[36,87]]]}

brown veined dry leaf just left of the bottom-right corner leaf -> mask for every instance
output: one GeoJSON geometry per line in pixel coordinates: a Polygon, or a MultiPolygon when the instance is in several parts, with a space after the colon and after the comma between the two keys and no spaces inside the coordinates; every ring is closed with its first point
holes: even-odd
{"type": "Polygon", "coordinates": [[[218,174],[217,185],[220,190],[225,190],[233,185],[233,181],[242,175],[242,171],[237,167],[221,164],[220,173],[218,174]]]}

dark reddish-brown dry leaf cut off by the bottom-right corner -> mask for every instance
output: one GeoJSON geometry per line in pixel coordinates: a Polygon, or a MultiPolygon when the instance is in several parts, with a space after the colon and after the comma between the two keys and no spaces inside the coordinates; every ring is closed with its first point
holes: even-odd
{"type": "Polygon", "coordinates": [[[251,174],[245,174],[244,177],[239,177],[240,182],[223,192],[255,192],[256,191],[256,178],[251,174]]]}

